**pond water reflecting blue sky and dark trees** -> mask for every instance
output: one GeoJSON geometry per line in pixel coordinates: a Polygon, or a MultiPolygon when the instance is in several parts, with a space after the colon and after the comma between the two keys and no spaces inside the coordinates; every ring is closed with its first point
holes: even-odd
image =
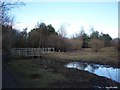
{"type": "Polygon", "coordinates": [[[120,83],[120,68],[108,67],[107,65],[71,62],[65,65],[67,68],[76,68],[89,71],[99,76],[104,76],[120,83]]]}

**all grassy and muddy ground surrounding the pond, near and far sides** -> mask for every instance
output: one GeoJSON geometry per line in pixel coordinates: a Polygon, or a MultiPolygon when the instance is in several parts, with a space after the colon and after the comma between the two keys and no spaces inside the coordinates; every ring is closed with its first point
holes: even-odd
{"type": "Polygon", "coordinates": [[[69,61],[85,61],[117,66],[118,53],[113,48],[99,52],[82,49],[75,52],[54,52],[42,58],[8,61],[11,71],[20,77],[25,88],[90,88],[118,86],[118,83],[87,71],[64,67],[69,61]],[[104,81],[104,82],[103,82],[104,81]]]}

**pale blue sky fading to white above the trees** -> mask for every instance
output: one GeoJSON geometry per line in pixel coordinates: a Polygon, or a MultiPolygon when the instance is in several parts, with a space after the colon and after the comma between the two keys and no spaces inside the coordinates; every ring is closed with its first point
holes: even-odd
{"type": "Polygon", "coordinates": [[[117,2],[25,2],[25,6],[14,8],[15,28],[21,31],[33,29],[37,22],[52,24],[56,31],[65,25],[67,37],[79,33],[81,27],[87,34],[91,28],[118,37],[117,2]]]}

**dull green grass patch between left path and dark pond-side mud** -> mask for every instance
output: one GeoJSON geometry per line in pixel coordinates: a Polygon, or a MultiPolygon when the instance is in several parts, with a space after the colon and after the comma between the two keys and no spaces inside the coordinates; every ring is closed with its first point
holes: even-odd
{"type": "Polygon", "coordinates": [[[59,81],[65,81],[61,74],[52,73],[52,69],[45,69],[40,65],[39,59],[23,59],[9,61],[11,70],[21,77],[24,87],[51,87],[49,84],[59,81]]]}

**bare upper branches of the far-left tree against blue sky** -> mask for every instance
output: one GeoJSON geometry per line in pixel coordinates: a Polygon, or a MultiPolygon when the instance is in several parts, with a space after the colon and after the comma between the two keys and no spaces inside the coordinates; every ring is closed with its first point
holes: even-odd
{"type": "Polygon", "coordinates": [[[10,11],[18,6],[25,5],[23,2],[17,1],[9,1],[2,0],[0,1],[0,19],[2,21],[2,25],[9,25],[11,20],[13,21],[13,17],[10,16],[10,11]]]}

